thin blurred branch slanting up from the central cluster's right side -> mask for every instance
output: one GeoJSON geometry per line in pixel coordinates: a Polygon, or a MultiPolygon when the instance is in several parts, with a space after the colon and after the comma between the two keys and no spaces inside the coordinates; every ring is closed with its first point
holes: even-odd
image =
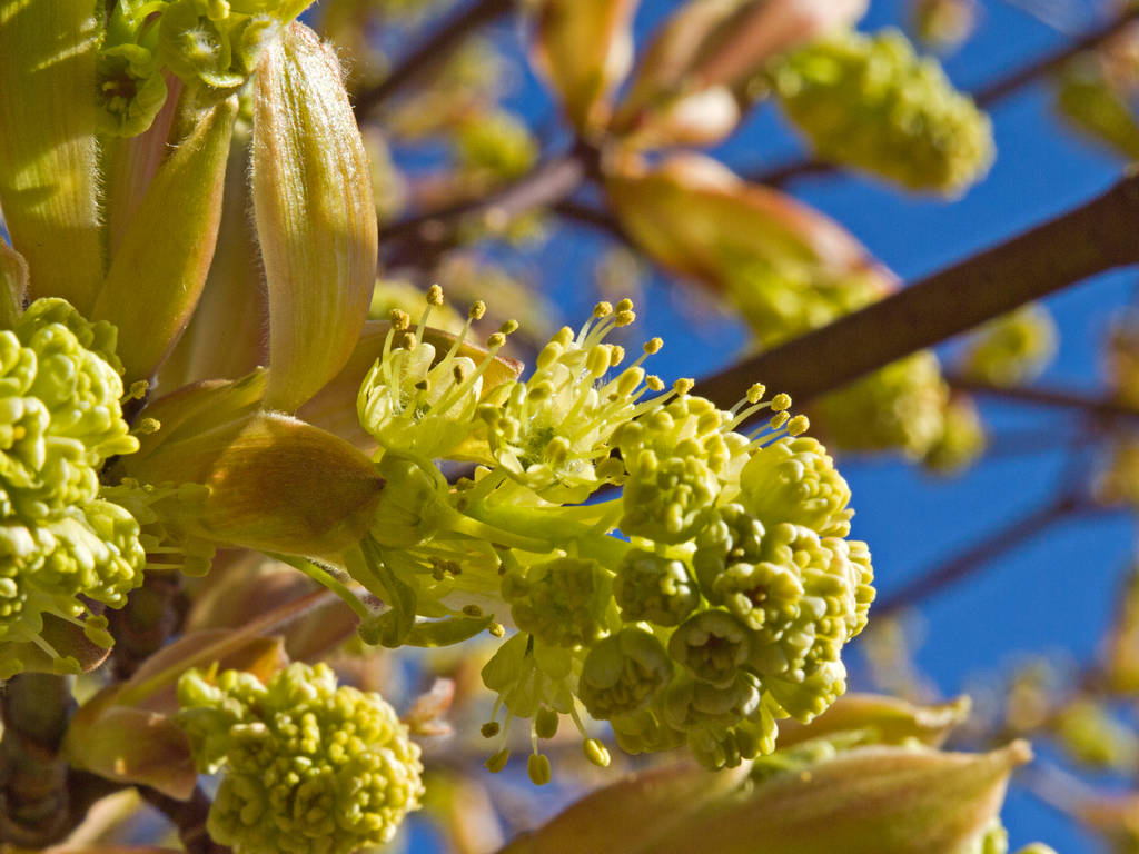
{"type": "Polygon", "coordinates": [[[1080,512],[1090,512],[1093,509],[1092,506],[1074,496],[1063,496],[1057,501],[1049,502],[1001,528],[995,534],[974,543],[945,563],[911,578],[888,597],[875,602],[870,609],[871,615],[875,618],[882,618],[916,605],[977,573],[988,561],[1013,550],[1060,519],[1070,518],[1080,512]]]}

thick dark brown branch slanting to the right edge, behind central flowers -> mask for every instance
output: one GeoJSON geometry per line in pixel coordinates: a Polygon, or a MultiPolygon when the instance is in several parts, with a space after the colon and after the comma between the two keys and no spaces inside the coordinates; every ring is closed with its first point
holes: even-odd
{"type": "Polygon", "coordinates": [[[721,405],[752,383],[802,404],[1024,303],[1139,263],[1139,173],[1049,222],[697,384],[721,405]]]}

